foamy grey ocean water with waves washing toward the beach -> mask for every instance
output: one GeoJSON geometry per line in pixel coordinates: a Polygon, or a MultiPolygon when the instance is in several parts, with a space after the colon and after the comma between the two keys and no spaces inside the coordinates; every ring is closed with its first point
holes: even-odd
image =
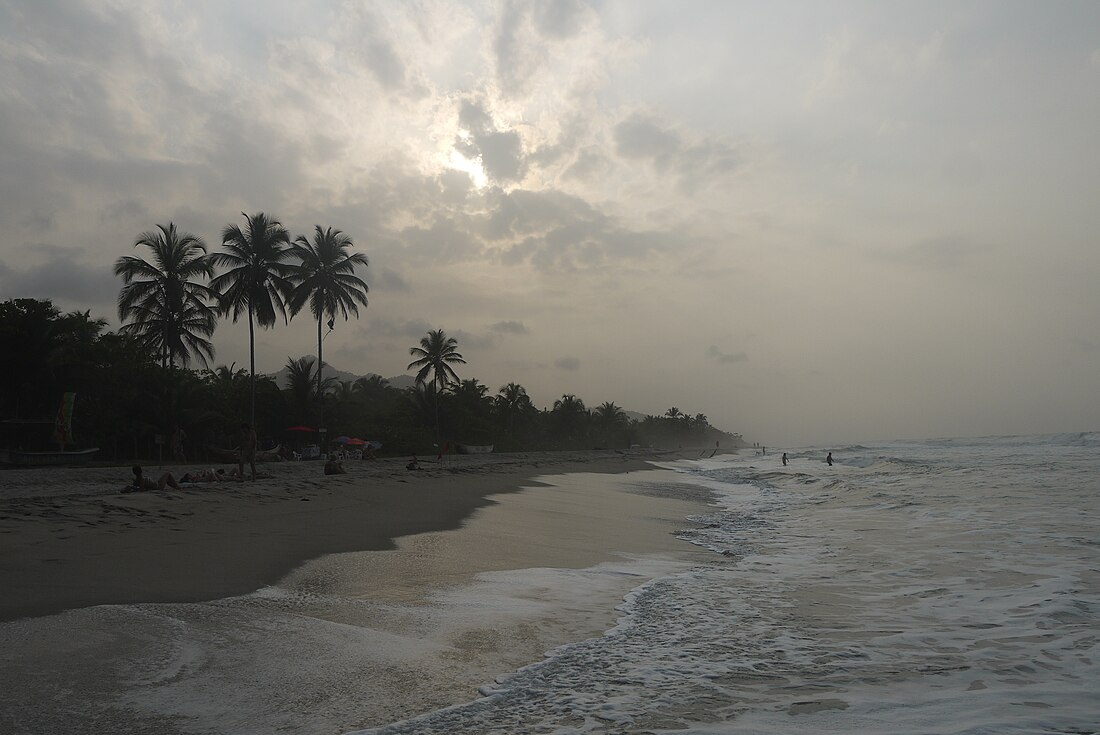
{"type": "Polygon", "coordinates": [[[1100,732],[1100,434],[719,456],[618,624],[362,733],[1100,732]],[[836,463],[828,467],[825,453],[836,463]]]}

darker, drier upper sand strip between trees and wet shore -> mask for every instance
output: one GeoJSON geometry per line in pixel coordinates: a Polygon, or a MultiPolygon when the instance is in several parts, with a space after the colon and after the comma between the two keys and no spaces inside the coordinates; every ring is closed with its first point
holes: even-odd
{"type": "MultiPolygon", "coordinates": [[[[689,452],[690,454],[690,452],[689,452]]],[[[199,602],[258,590],[324,555],[459,527],[542,474],[618,473],[680,453],[565,451],[260,465],[256,482],[122,494],[129,468],[0,474],[0,621],[100,604],[199,602]]],[[[196,465],[146,468],[177,478],[196,465]]]]}

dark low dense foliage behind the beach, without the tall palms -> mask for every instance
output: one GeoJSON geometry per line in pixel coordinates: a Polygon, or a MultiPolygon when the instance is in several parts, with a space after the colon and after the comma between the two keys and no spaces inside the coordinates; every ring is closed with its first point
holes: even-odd
{"type": "MultiPolygon", "coordinates": [[[[155,458],[155,443],[175,426],[187,436],[187,454],[204,459],[210,447],[231,447],[250,410],[249,371],[237,365],[183,369],[164,364],[139,337],[109,331],[87,311],[62,314],[50,301],[0,303],[0,418],[52,419],[62,394],[77,394],[74,435],[80,447],[99,447],[100,459],[155,458]]],[[[442,343],[454,347],[446,334],[442,343]]],[[[438,341],[438,338],[437,338],[438,341]]],[[[449,352],[450,353],[450,352],[449,352]]],[[[474,379],[421,382],[397,390],[377,375],[322,381],[317,399],[314,358],[288,359],[285,385],[256,376],[256,427],[270,443],[316,440],[320,404],[329,437],[383,442],[384,454],[433,454],[455,442],[493,443],[496,451],[539,449],[735,446],[737,437],[706,417],[670,409],[629,420],[604,403],[593,410],[573,395],[537,408],[516,383],[495,394],[474,379]],[[439,437],[436,439],[437,409],[439,437]]],[[[457,363],[450,363],[457,364],[457,363]]],[[[29,437],[31,441],[33,438],[29,437]]]]}

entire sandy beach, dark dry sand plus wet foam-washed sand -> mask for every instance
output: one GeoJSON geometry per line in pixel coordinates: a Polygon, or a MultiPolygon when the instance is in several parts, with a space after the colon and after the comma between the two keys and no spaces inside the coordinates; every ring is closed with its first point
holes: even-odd
{"type": "Polygon", "coordinates": [[[698,553],[674,531],[704,492],[616,480],[674,457],[268,463],[133,494],[128,468],[6,471],[0,725],[332,733],[469,701],[698,553]]]}

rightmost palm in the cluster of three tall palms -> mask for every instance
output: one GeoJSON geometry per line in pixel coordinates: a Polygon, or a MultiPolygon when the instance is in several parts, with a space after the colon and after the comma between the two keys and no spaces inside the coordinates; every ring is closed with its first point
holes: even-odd
{"type": "MultiPolygon", "coordinates": [[[[348,252],[354,243],[346,234],[332,228],[314,227],[314,241],[299,234],[290,249],[299,263],[290,266],[290,314],[298,311],[309,301],[310,312],[317,317],[317,394],[321,396],[321,372],[324,361],[321,354],[321,322],[329,319],[329,329],[336,323],[337,311],[344,321],[348,315],[359,316],[359,305],[366,307],[367,285],[355,275],[355,266],[366,267],[366,255],[348,252]]],[[[323,426],[323,409],[318,403],[318,417],[323,426]]]]}

